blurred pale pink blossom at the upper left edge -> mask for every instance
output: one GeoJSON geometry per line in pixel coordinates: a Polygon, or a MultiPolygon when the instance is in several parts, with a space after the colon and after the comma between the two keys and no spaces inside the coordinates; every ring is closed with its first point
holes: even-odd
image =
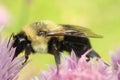
{"type": "Polygon", "coordinates": [[[10,14],[4,6],[0,6],[0,31],[9,23],[10,14]]]}

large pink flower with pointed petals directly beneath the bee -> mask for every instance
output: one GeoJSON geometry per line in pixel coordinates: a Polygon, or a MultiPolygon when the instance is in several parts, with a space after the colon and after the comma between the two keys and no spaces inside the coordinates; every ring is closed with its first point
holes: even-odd
{"type": "MultiPolygon", "coordinates": [[[[109,67],[102,60],[91,59],[86,61],[87,51],[77,61],[74,52],[71,56],[62,58],[59,73],[56,74],[56,68],[49,67],[50,71],[42,71],[39,80],[112,80],[108,75],[109,67]]],[[[36,79],[38,80],[38,79],[36,79]]]]}

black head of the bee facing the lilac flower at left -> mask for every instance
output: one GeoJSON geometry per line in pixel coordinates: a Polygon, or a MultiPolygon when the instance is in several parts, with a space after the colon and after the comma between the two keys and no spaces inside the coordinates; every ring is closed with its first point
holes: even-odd
{"type": "Polygon", "coordinates": [[[15,57],[17,57],[19,53],[21,53],[26,46],[31,43],[23,32],[13,36],[13,41],[13,48],[16,48],[15,57]]]}

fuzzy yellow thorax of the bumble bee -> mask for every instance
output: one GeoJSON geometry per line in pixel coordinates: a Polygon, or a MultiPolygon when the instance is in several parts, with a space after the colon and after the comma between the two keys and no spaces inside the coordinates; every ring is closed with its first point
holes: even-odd
{"type": "MultiPolygon", "coordinates": [[[[39,31],[62,31],[62,26],[59,26],[50,21],[40,21],[32,24],[28,24],[23,28],[23,32],[27,35],[27,38],[31,41],[31,45],[37,52],[47,52],[47,44],[52,36],[39,36],[39,31]]],[[[54,36],[63,40],[63,36],[54,36]]]]}

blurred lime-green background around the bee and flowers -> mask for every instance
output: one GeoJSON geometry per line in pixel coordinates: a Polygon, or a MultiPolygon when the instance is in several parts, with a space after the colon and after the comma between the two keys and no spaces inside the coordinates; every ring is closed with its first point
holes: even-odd
{"type": "MultiPolygon", "coordinates": [[[[0,0],[0,5],[11,14],[10,25],[2,32],[4,36],[18,33],[28,23],[51,20],[81,25],[103,35],[102,39],[91,39],[103,60],[109,61],[109,51],[120,46],[120,0],[0,0]]],[[[55,65],[49,54],[31,55],[30,60],[19,80],[39,76],[40,70],[47,69],[46,64],[55,65]]]]}

